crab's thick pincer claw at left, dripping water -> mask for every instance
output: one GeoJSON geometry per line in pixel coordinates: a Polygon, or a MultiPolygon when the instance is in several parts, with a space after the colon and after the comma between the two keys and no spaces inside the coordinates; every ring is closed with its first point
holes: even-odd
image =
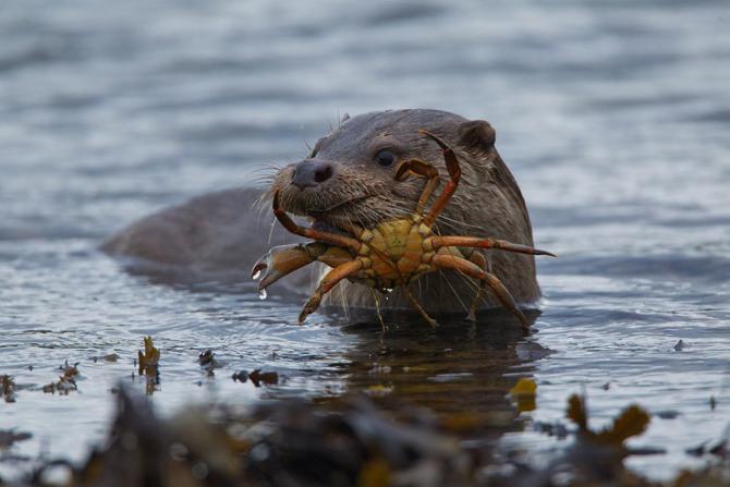
{"type": "Polygon", "coordinates": [[[323,242],[278,245],[254,264],[251,277],[254,279],[260,277],[258,289],[264,290],[282,277],[315,260],[337,267],[352,260],[352,255],[344,248],[323,242]]]}

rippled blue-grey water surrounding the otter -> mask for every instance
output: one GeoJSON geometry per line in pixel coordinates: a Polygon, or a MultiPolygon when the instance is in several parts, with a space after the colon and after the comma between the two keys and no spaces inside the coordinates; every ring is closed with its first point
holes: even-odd
{"type": "Polygon", "coordinates": [[[531,375],[539,421],[582,390],[597,425],[629,402],[679,412],[632,443],[667,454],[630,464],[655,478],[696,465],[684,449],[730,424],[729,27],[723,1],[3,2],[0,374],[22,388],[0,429],[34,434],[12,453],[83,459],[110,389],[144,390],[131,375],[151,334],[163,412],[391,388],[386,405],[507,416],[501,445],[539,462],[560,443],[504,398],[531,375]],[[160,284],[97,249],[135,218],[297,160],[344,112],[403,107],[497,127],[536,245],[560,256],[539,259],[532,337],[508,318],[296,327],[299,305],[260,301],[245,276],[160,284]],[[215,377],[196,363],[208,348],[215,377]],[[94,362],[109,352],[120,360],[94,362]],[[44,394],[66,360],[80,392],[44,394]],[[280,383],[229,379],[255,367],[280,383]]]}

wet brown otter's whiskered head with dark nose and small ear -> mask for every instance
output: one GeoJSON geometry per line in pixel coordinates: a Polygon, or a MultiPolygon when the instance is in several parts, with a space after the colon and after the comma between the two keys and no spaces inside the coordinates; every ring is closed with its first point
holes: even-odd
{"type": "MultiPolygon", "coordinates": [[[[441,150],[419,135],[418,129],[451,145],[466,185],[480,183],[474,172],[485,171],[485,160],[496,155],[495,132],[487,122],[437,110],[394,110],[346,119],[317,142],[308,158],[281,169],[271,191],[279,190],[284,210],[327,227],[351,221],[373,228],[382,220],[410,215],[425,180],[396,181],[400,163],[421,159],[448,176],[441,150]]],[[[448,208],[445,216],[449,218],[448,208]]],[[[462,215],[451,218],[459,217],[462,215]]]]}

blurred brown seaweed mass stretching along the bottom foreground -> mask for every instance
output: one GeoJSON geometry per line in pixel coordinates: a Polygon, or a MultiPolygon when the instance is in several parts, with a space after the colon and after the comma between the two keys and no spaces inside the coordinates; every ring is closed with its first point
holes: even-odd
{"type": "Polygon", "coordinates": [[[540,468],[516,456],[498,459],[488,447],[464,443],[417,410],[411,413],[411,421],[397,422],[357,397],[337,412],[278,401],[245,415],[200,409],[160,419],[148,400],[120,388],[106,443],[84,465],[48,462],[23,485],[45,485],[45,470],[60,465],[69,468],[69,487],[730,485],[727,458],[667,484],[625,470],[621,460],[632,450],[624,441],[649,421],[635,405],[593,430],[584,399],[572,397],[568,417],[577,426],[575,441],[540,468]]]}

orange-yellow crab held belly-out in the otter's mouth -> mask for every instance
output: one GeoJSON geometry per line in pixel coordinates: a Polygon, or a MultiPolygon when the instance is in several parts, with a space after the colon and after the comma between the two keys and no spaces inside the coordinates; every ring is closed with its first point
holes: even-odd
{"type": "MultiPolygon", "coordinates": [[[[313,261],[331,267],[302,308],[300,325],[319,307],[325,294],[341,280],[349,279],[382,293],[390,292],[396,287],[403,288],[413,307],[429,325],[436,326],[436,320],[426,313],[407,284],[425,273],[452,269],[479,282],[469,309],[469,320],[475,319],[479,300],[489,288],[525,329],[530,327],[530,321],[518,308],[510,292],[497,276],[489,272],[486,257],[477,249],[555,255],[504,240],[438,234],[435,231],[436,219],[459,187],[461,170],[457,155],[443,141],[426,130],[418,132],[441,148],[449,173],[446,186],[435,198],[430,209],[426,205],[439,186],[440,178],[433,165],[418,159],[403,161],[396,172],[398,181],[405,180],[410,174],[426,179],[413,214],[405,218],[382,221],[370,229],[346,223],[342,228],[346,234],[340,234],[299,226],[279,206],[279,191],[273,193],[272,209],[279,222],[291,233],[312,239],[313,242],[276,246],[261,257],[252,269],[252,277],[260,278],[259,292],[265,292],[273,282],[313,261]]],[[[377,305],[375,292],[374,297],[377,305]]]]}

